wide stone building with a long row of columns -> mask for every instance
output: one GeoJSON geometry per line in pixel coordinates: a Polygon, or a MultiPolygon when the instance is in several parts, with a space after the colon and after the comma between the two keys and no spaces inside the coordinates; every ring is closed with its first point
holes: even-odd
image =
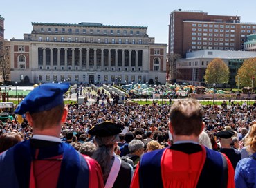
{"type": "Polygon", "coordinates": [[[155,44],[147,27],[102,23],[32,23],[24,39],[11,39],[16,82],[125,84],[166,82],[167,44],[155,44]]]}

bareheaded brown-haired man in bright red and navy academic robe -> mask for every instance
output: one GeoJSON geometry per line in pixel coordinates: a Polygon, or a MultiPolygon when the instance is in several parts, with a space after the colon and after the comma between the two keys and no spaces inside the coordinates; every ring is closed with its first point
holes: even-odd
{"type": "Polygon", "coordinates": [[[145,153],[131,187],[235,187],[234,169],[227,156],[199,144],[204,127],[199,102],[174,102],[169,122],[174,144],[145,153]]]}

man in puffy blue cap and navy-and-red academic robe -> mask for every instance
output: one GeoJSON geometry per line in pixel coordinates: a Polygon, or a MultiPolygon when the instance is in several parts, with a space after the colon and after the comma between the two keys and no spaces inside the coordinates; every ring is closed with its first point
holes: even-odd
{"type": "Polygon", "coordinates": [[[33,138],[0,155],[0,187],[103,187],[98,162],[60,139],[68,109],[63,94],[69,84],[42,84],[17,106],[26,114],[33,138]]]}

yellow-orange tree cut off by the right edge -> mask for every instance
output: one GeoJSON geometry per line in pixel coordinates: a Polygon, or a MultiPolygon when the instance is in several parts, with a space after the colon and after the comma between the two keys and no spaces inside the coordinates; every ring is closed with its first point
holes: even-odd
{"type": "Polygon", "coordinates": [[[237,71],[235,82],[237,86],[255,86],[256,58],[246,59],[237,71]]]}

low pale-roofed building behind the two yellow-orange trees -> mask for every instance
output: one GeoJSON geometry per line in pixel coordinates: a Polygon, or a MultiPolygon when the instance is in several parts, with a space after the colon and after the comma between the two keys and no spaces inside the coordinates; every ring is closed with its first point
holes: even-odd
{"type": "Polygon", "coordinates": [[[229,84],[235,86],[235,76],[244,60],[256,57],[256,52],[248,51],[223,51],[223,50],[197,50],[187,53],[185,59],[177,62],[177,83],[186,82],[195,86],[205,86],[205,70],[215,58],[220,58],[226,63],[230,70],[229,84]]]}

